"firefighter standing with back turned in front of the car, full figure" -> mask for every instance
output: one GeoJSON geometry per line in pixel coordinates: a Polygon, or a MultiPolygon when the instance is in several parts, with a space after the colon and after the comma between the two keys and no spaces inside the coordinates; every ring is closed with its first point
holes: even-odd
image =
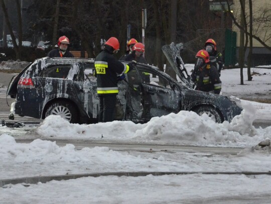
{"type": "Polygon", "coordinates": [[[94,61],[94,76],[97,77],[97,93],[100,103],[99,122],[113,121],[116,95],[118,94],[117,75],[131,71],[137,64],[132,61],[124,65],[116,60],[113,54],[118,50],[118,40],[111,37],[104,43],[102,51],[94,61]]]}

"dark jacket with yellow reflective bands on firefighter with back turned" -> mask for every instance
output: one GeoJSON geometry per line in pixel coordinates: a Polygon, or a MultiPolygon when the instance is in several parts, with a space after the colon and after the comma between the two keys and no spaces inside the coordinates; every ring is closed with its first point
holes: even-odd
{"type": "Polygon", "coordinates": [[[107,50],[101,51],[94,61],[98,94],[117,94],[117,74],[125,74],[129,66],[114,58],[107,50]]]}

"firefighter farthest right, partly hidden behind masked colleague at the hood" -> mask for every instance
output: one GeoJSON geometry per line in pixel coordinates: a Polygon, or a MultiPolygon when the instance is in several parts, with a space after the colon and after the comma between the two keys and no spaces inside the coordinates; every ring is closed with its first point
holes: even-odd
{"type": "Polygon", "coordinates": [[[210,58],[210,61],[217,68],[220,76],[220,72],[223,67],[223,60],[222,54],[216,50],[216,42],[213,39],[208,39],[204,45],[204,49],[209,53],[210,57],[214,57],[212,59],[210,58]]]}

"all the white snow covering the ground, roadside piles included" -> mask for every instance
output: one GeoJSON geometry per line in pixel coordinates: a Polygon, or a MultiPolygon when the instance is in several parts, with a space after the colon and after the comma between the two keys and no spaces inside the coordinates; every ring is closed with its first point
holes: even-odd
{"type": "MultiPolygon", "coordinates": [[[[244,73],[245,73],[244,69],[244,73]]],[[[270,96],[271,70],[260,69],[251,85],[238,85],[239,70],[222,70],[222,93],[270,96]],[[265,73],[265,75],[264,75],[265,73]],[[247,88],[246,88],[247,87],[247,88]],[[268,95],[269,94],[269,95],[268,95]]],[[[244,76],[245,78],[245,76],[244,76]]],[[[26,135],[31,143],[15,141],[11,128],[0,127],[0,179],[117,171],[269,172],[271,126],[255,128],[255,118],[270,118],[270,104],[241,100],[241,115],[231,123],[214,123],[193,112],[155,117],[146,124],[113,121],[70,124],[47,117],[26,135]],[[103,136],[103,137],[101,137],[103,136]],[[130,141],[134,143],[242,147],[237,155],[186,151],[115,151],[108,147],[76,149],[46,139],[130,141]],[[43,139],[43,140],[41,140],[43,139]],[[266,146],[257,145],[265,140],[266,146]],[[269,144],[268,144],[269,142],[269,144]]],[[[22,135],[24,138],[25,135],[22,135]]],[[[269,203],[269,175],[187,174],[164,176],[100,176],[38,184],[8,184],[0,188],[1,203],[269,203]],[[246,199],[241,202],[240,200],[246,199]]]]}

